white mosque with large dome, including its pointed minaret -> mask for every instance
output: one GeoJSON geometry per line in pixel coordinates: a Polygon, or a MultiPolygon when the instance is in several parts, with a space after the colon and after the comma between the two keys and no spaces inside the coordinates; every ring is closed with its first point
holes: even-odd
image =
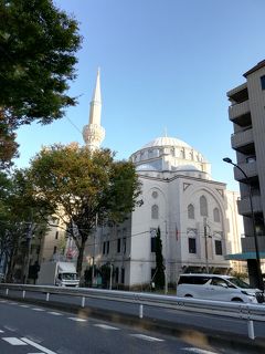
{"type": "MultiPolygon", "coordinates": [[[[99,148],[100,77],[91,103],[85,143],[99,148]]],[[[155,235],[161,230],[168,283],[183,272],[240,271],[241,264],[225,254],[241,252],[242,219],[239,192],[213,180],[211,164],[189,144],[176,137],[157,137],[130,156],[142,184],[142,205],[123,223],[98,228],[88,242],[84,269],[112,264],[113,285],[137,289],[149,284],[156,269],[155,235]]]]}

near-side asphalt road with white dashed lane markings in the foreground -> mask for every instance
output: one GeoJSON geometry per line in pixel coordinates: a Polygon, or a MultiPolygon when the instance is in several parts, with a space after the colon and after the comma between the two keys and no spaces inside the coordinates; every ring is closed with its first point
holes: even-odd
{"type": "Polygon", "coordinates": [[[223,354],[186,341],[34,304],[0,300],[1,354],[223,354]]]}

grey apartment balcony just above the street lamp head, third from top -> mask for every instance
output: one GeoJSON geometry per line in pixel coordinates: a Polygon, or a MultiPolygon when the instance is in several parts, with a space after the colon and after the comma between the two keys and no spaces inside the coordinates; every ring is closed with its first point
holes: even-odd
{"type": "Polygon", "coordinates": [[[243,154],[254,153],[253,129],[248,128],[246,131],[232,134],[231,146],[233,149],[243,154]]]}

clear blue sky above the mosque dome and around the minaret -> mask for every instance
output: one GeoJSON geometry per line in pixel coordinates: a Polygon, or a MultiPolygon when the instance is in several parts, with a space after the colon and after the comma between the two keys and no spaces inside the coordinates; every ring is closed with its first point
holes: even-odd
{"type": "Polygon", "coordinates": [[[230,156],[226,92],[265,59],[264,0],[56,0],[80,22],[83,45],[71,94],[78,105],[49,126],[18,131],[19,167],[42,145],[83,143],[97,67],[103,147],[128,158],[165,134],[202,153],[212,177],[239,190],[230,156]]]}

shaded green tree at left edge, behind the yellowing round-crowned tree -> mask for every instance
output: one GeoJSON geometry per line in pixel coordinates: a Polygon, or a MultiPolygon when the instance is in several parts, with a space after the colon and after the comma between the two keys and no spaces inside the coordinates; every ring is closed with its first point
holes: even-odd
{"type": "Polygon", "coordinates": [[[20,266],[19,281],[26,278],[30,238],[43,235],[43,212],[34,208],[34,199],[28,197],[23,170],[12,176],[0,174],[0,259],[8,263],[7,280],[12,281],[15,264],[20,266]]]}

